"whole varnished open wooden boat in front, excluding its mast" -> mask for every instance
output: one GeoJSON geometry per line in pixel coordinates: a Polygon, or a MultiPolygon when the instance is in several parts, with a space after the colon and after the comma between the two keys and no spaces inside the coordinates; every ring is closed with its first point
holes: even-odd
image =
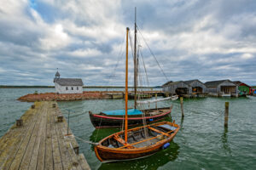
{"type": "Polygon", "coordinates": [[[179,126],[175,122],[159,122],[136,127],[125,132],[113,133],[95,146],[100,161],[121,161],[151,156],[168,143],[177,134],[179,126]]]}

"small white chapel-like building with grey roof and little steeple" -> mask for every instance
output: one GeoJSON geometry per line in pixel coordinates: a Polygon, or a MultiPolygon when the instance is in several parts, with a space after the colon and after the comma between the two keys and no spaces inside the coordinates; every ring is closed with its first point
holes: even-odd
{"type": "Polygon", "coordinates": [[[84,83],[81,78],[61,78],[57,71],[54,82],[56,94],[83,94],[84,83]]]}

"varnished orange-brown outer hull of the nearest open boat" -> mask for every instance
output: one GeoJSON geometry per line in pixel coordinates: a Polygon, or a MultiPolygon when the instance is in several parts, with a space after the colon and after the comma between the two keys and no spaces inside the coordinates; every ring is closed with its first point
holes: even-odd
{"type": "MultiPolygon", "coordinates": [[[[163,122],[160,122],[163,123],[163,122]]],[[[155,123],[159,124],[159,123],[155,123]]],[[[154,125],[154,124],[153,124],[154,125]]],[[[134,129],[141,128],[136,127],[128,130],[128,132],[133,131],[134,129]]],[[[132,149],[125,149],[125,148],[108,148],[102,145],[102,142],[111,138],[114,134],[108,136],[105,139],[102,139],[98,145],[95,146],[95,153],[96,157],[100,161],[126,161],[132,159],[143,158],[145,156],[151,156],[156,153],[158,150],[161,150],[162,146],[170,141],[175,137],[177,131],[179,130],[179,126],[177,126],[177,130],[170,135],[167,139],[160,140],[160,142],[148,145],[142,148],[132,148],[132,149]]]]}

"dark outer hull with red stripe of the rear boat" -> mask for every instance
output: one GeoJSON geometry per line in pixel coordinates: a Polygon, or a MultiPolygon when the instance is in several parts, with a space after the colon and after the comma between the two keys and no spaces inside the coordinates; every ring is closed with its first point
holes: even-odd
{"type": "MultiPolygon", "coordinates": [[[[128,126],[142,125],[143,120],[147,123],[156,122],[169,116],[172,111],[172,107],[169,111],[163,112],[156,116],[128,116],[128,126]]],[[[100,114],[90,113],[90,122],[96,128],[106,128],[106,127],[121,127],[125,121],[125,116],[103,116],[100,114]]]]}

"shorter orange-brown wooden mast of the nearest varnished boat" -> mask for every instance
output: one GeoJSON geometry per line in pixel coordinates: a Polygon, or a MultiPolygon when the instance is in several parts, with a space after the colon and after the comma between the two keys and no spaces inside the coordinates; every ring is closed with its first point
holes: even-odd
{"type": "Polygon", "coordinates": [[[125,61],[125,143],[127,143],[128,129],[128,33],[129,28],[126,28],[126,61],[125,61]]]}

